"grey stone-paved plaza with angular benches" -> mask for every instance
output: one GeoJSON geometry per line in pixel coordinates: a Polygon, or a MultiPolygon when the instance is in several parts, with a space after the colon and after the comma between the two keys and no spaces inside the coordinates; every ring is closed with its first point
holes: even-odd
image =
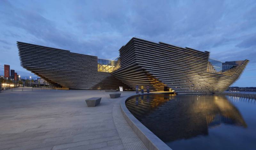
{"type": "Polygon", "coordinates": [[[146,149],[124,120],[120,100],[100,90],[16,88],[0,93],[0,149],[146,149]],[[97,107],[85,99],[102,97],[97,107]]]}

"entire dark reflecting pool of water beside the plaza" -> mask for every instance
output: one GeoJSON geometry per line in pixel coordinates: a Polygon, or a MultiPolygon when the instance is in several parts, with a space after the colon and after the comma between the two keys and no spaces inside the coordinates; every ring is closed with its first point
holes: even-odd
{"type": "Polygon", "coordinates": [[[225,95],[152,94],[126,107],[174,150],[256,149],[256,100],[225,95]]]}

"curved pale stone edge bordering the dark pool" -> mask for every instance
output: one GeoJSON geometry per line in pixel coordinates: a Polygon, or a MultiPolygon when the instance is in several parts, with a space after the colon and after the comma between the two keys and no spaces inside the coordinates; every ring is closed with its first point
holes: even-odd
{"type": "Polygon", "coordinates": [[[138,119],[136,119],[132,113],[128,110],[125,106],[125,102],[131,98],[138,97],[141,95],[148,95],[148,94],[168,94],[173,92],[157,92],[157,93],[146,93],[146,94],[135,94],[128,98],[121,99],[120,106],[122,114],[130,125],[132,130],[135,134],[140,138],[142,143],[149,149],[149,150],[172,150],[169,146],[167,146],[160,138],[158,138],[153,132],[148,130],[138,119]]]}

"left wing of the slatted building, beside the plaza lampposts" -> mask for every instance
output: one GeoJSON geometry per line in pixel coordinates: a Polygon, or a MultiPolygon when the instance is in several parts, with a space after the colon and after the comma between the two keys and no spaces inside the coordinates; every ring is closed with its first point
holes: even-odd
{"type": "Polygon", "coordinates": [[[98,64],[96,56],[23,42],[17,45],[21,66],[55,86],[94,90],[129,88],[109,73],[108,65],[98,64]],[[104,71],[99,71],[99,66],[104,66],[101,67],[104,71]]]}

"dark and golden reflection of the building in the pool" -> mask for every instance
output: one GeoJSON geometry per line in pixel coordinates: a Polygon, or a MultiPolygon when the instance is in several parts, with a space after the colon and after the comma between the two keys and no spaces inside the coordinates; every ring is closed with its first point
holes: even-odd
{"type": "MultiPolygon", "coordinates": [[[[162,94],[163,95],[163,94],[162,94]]],[[[126,102],[130,112],[164,142],[198,135],[208,135],[208,128],[221,123],[247,125],[239,110],[225,97],[146,95],[143,104],[135,106],[135,98],[126,102]]]]}

